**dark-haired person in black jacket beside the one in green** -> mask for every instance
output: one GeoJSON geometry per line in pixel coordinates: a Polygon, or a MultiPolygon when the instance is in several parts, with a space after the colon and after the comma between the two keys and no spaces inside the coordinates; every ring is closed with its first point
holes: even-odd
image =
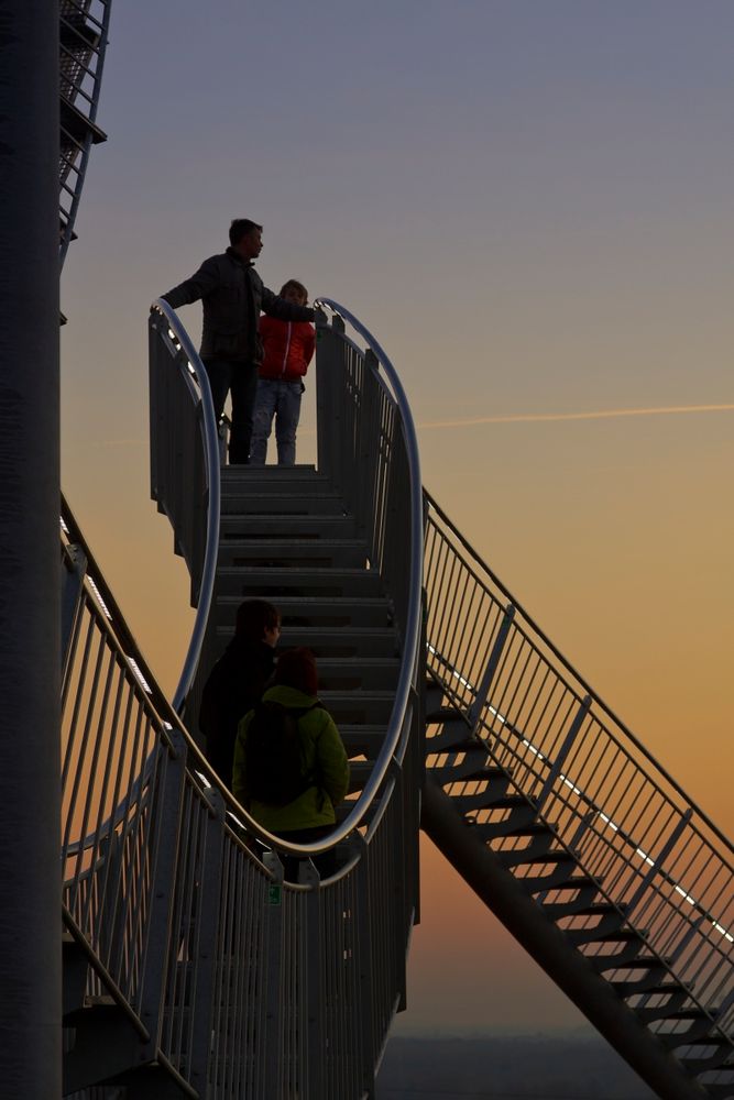
{"type": "Polygon", "coordinates": [[[237,612],[234,637],[204,686],[199,729],[207,760],[227,787],[232,782],[238,724],[260,702],[273,674],[280,634],[277,608],[265,600],[245,600],[237,612]]]}

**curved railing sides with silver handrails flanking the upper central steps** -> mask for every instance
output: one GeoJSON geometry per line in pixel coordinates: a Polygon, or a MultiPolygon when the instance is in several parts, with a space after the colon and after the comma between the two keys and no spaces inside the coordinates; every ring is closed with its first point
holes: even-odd
{"type": "MultiPolygon", "coordinates": [[[[419,727],[423,504],[413,418],[397,373],[374,338],[343,307],[330,299],[319,299],[319,304],[335,317],[333,326],[321,323],[320,318],[318,328],[319,469],[332,479],[347,506],[354,510],[373,566],[380,570],[394,597],[403,660],[383,747],[353,809],[329,837],[313,844],[285,843],[239,807],[239,820],[247,822],[260,840],[296,855],[314,855],[333,847],[363,823],[377,792],[384,793],[385,783],[392,789],[409,734],[419,727]],[[344,317],[365,341],[364,351],[346,338],[344,317]],[[372,447],[370,433],[374,433],[372,447]],[[372,486],[372,491],[366,492],[365,486],[372,486]]],[[[180,710],[196,673],[210,616],[219,524],[215,450],[220,448],[220,458],[222,450],[213,407],[207,399],[204,365],[186,329],[162,299],[153,304],[149,332],[152,495],[158,509],[171,519],[176,548],[191,573],[191,602],[197,604],[175,697],[180,710]],[[206,539],[200,535],[202,530],[206,539]]],[[[413,769],[419,759],[417,751],[414,756],[413,769]]]]}

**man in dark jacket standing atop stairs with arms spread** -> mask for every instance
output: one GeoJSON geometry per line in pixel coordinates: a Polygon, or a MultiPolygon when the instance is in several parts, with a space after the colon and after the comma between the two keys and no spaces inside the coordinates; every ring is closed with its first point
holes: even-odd
{"type": "Polygon", "coordinates": [[[262,251],[262,232],[254,221],[235,218],[227,252],[205,260],[195,275],[163,295],[174,309],[201,299],[200,355],[218,420],[228,392],[232,394],[230,463],[250,461],[258,370],[263,360],[258,331],[261,311],[282,321],[314,320],[313,309],[285,301],[263,286],[253,265],[262,251]]]}

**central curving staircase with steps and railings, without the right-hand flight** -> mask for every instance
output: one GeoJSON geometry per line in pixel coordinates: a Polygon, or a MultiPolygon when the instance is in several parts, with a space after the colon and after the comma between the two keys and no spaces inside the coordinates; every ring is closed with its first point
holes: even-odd
{"type": "Polygon", "coordinates": [[[405,1003],[417,915],[424,647],[410,427],[386,377],[352,372],[342,384],[354,420],[329,444],[349,485],[325,460],[318,472],[224,470],[220,494],[208,386],[162,309],[151,349],[153,492],[199,601],[178,710],[195,713],[200,652],[217,652],[243,593],[270,595],[285,641],[318,656],[352,784],[330,837],[281,845],[336,847],[337,871],[321,882],[305,860],[284,881],[275,838],[200,756],[64,509],[64,1091],[361,1100],[405,1003]],[[370,462],[353,430],[366,410],[382,425],[370,462]],[[374,522],[398,510],[390,527],[374,522]]]}

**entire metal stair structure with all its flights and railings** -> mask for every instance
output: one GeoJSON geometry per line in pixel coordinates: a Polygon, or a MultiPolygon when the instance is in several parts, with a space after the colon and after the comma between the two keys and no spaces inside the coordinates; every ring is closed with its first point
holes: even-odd
{"type": "MultiPolygon", "coordinates": [[[[103,138],[109,8],[61,2],[62,257],[103,138]]],[[[423,827],[658,1096],[734,1097],[731,843],[423,488],[397,373],[320,305],[317,463],[255,471],[221,465],[206,374],[154,304],[152,495],[197,607],[173,701],[63,507],[64,1094],[373,1097],[423,827]],[[261,829],[197,744],[202,679],[253,595],[317,654],[350,755],[309,846],[261,829]]]]}

